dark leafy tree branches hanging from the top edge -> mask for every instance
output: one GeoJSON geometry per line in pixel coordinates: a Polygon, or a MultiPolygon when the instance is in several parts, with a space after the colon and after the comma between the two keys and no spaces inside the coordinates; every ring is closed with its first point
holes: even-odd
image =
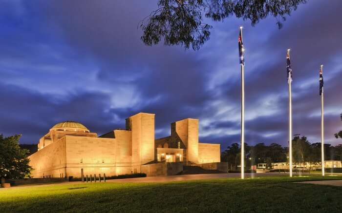
{"type": "Polygon", "coordinates": [[[146,45],[157,44],[163,38],[166,45],[190,46],[198,50],[210,38],[212,25],[208,20],[223,21],[235,16],[251,20],[252,26],[272,15],[278,28],[286,15],[306,0],[158,0],[158,9],[141,23],[141,40],[146,45]]]}

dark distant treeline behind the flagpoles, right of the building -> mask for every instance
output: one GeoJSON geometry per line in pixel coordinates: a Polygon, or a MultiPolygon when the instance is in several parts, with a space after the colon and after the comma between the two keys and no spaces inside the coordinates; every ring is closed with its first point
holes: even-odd
{"type": "MultiPolygon", "coordinates": [[[[321,142],[310,143],[305,136],[295,135],[292,140],[292,156],[294,163],[310,162],[312,164],[321,162],[321,142]]],[[[245,143],[246,168],[258,163],[271,164],[273,162],[288,162],[288,147],[282,147],[278,143],[265,145],[258,143],[249,146],[245,143]]],[[[342,144],[331,146],[324,144],[325,160],[342,160],[342,144]]],[[[239,143],[233,143],[221,153],[221,162],[228,162],[230,170],[236,170],[241,161],[241,148],[239,143]]]]}

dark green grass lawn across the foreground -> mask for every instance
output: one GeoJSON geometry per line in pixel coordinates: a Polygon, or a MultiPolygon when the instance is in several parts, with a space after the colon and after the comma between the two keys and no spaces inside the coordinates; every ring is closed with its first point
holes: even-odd
{"type": "Polygon", "coordinates": [[[320,179],[342,176],[35,186],[0,190],[0,213],[341,212],[342,187],[293,183],[320,179]]]}

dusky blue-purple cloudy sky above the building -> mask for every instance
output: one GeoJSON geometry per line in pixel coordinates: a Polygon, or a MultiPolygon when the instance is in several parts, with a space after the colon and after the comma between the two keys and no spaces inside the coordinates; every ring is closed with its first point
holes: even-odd
{"type": "Polygon", "coordinates": [[[240,141],[240,67],[245,51],[245,142],[287,146],[286,50],[293,69],[293,134],[321,141],[323,64],[325,142],[342,143],[341,0],[308,1],[278,29],[231,17],[213,24],[194,51],[146,46],[139,22],[155,0],[0,0],[0,134],[37,143],[56,123],[74,120],[98,135],[125,118],[155,114],[155,137],[170,124],[199,119],[200,142],[221,150],[240,141]]]}

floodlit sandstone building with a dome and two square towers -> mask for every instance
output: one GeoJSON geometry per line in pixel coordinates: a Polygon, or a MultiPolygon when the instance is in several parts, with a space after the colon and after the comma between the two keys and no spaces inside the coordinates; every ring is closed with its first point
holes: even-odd
{"type": "Polygon", "coordinates": [[[78,122],[58,123],[40,138],[38,152],[29,156],[32,176],[170,175],[181,172],[183,165],[220,162],[220,144],[198,142],[198,119],[174,122],[171,136],[155,140],[154,116],[130,116],[126,130],[102,136],[78,122]]]}

